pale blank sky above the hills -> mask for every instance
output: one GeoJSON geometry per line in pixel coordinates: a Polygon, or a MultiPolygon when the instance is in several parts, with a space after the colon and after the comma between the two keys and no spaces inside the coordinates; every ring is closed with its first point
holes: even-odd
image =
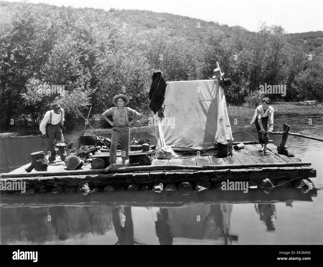
{"type": "Polygon", "coordinates": [[[29,0],[28,2],[106,10],[113,7],[166,12],[205,21],[217,21],[228,26],[240,25],[249,31],[257,31],[260,22],[280,25],[287,33],[323,30],[322,0],[29,0]]]}

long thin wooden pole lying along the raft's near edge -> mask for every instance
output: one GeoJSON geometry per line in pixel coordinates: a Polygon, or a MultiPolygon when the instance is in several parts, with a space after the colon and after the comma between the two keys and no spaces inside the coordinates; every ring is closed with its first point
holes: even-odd
{"type": "Polygon", "coordinates": [[[0,178],[22,178],[36,176],[63,176],[63,175],[86,175],[86,174],[109,174],[121,172],[140,172],[157,170],[221,170],[221,169],[240,169],[240,168],[259,168],[259,167],[293,167],[311,166],[310,162],[286,162],[286,163],[253,163],[253,164],[231,164],[231,165],[204,165],[204,166],[182,166],[182,165],[152,165],[152,166],[133,166],[112,168],[109,172],[104,169],[97,170],[74,170],[60,172],[33,172],[33,173],[2,173],[0,178]]]}

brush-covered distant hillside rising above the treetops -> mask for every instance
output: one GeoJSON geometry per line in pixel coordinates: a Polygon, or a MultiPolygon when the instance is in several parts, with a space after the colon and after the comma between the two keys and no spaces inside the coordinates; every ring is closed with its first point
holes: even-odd
{"type": "MultiPolygon", "coordinates": [[[[18,2],[0,1],[0,7],[8,8],[10,4],[18,4],[18,2]]],[[[39,5],[39,4],[30,4],[39,5]]],[[[60,9],[66,7],[57,7],[54,5],[47,5],[52,9],[60,9]]],[[[91,10],[98,10],[94,8],[86,8],[91,10]]],[[[76,12],[80,10],[75,8],[76,12]]],[[[135,27],[136,32],[148,29],[155,29],[164,27],[171,33],[171,36],[183,36],[190,41],[203,43],[207,35],[207,28],[213,27],[225,33],[225,37],[230,37],[233,29],[238,27],[245,31],[246,34],[251,33],[245,28],[236,25],[229,27],[226,24],[219,24],[218,22],[205,21],[197,18],[187,16],[175,15],[170,13],[157,13],[148,10],[126,10],[114,9],[109,10],[112,16],[119,19],[121,25],[131,25],[135,27]]],[[[301,47],[304,52],[311,52],[313,54],[320,54],[323,52],[323,31],[308,32],[308,33],[290,33],[287,34],[287,41],[296,47],[301,47]]]]}

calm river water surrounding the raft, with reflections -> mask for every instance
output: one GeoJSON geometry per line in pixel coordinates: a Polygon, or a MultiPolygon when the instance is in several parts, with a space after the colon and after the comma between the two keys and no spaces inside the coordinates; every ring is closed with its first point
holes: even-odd
{"type": "MultiPolygon", "coordinates": [[[[322,107],[276,105],[274,131],[323,138],[322,107]],[[309,123],[310,122],[310,123],[309,123]]],[[[256,137],[249,122],[253,109],[229,109],[233,119],[256,137]]],[[[235,141],[253,140],[230,119],[235,141]]],[[[90,133],[90,131],[88,131],[90,133]]],[[[110,137],[110,130],[98,130],[110,137]]],[[[131,138],[150,138],[154,128],[131,129],[131,138]]],[[[69,141],[77,134],[64,135],[69,141]]],[[[277,146],[281,136],[269,137],[277,146]]],[[[1,244],[322,244],[323,142],[289,136],[286,146],[317,170],[318,190],[271,192],[204,190],[177,192],[43,193],[0,195],[1,244]]],[[[46,151],[37,136],[0,139],[1,172],[30,162],[30,153],[46,151]]]]}

